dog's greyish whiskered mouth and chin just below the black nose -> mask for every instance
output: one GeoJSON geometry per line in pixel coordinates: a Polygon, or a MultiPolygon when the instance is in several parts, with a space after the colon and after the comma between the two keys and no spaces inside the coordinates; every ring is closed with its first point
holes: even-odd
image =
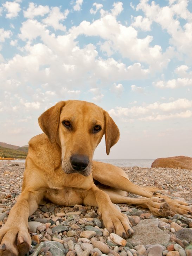
{"type": "Polygon", "coordinates": [[[81,174],[81,175],[87,177],[91,173],[91,162],[85,169],[82,170],[80,168],[79,169],[73,168],[69,160],[63,159],[62,160],[62,170],[66,174],[78,173],[78,174],[81,174]]]}

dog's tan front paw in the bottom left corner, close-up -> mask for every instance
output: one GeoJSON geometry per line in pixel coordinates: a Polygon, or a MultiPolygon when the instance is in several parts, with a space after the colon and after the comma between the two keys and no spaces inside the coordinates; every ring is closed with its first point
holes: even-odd
{"type": "Polygon", "coordinates": [[[0,256],[25,255],[31,245],[27,226],[6,225],[0,229],[0,256]]]}

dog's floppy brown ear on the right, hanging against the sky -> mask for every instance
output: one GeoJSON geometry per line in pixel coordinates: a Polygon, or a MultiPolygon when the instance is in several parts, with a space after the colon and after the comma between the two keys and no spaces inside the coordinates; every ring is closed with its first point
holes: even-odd
{"type": "Polygon", "coordinates": [[[119,140],[119,129],[116,126],[113,119],[109,116],[109,114],[104,111],[104,119],[105,119],[105,145],[106,145],[106,153],[109,155],[110,148],[117,143],[119,140]]]}

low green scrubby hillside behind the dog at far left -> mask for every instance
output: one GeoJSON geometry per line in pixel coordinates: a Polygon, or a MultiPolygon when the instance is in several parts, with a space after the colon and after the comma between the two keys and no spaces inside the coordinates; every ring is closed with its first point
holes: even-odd
{"type": "Polygon", "coordinates": [[[11,149],[11,148],[4,148],[0,146],[0,157],[4,158],[26,158],[28,152],[28,148],[18,148],[18,149],[11,149]]]}

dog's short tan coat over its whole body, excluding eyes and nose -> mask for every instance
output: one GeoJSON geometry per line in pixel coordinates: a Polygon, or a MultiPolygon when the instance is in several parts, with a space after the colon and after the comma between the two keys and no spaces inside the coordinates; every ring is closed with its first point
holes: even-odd
{"type": "Polygon", "coordinates": [[[29,142],[22,193],[6,224],[0,229],[0,256],[24,255],[29,250],[28,216],[43,198],[59,205],[98,206],[104,226],[109,232],[122,237],[129,237],[133,230],[127,216],[119,212],[112,202],[136,204],[159,216],[168,216],[170,206],[175,213],[192,211],[188,203],[159,198],[157,194],[153,197],[155,187],[145,189],[134,185],[120,168],[92,161],[95,148],[104,134],[107,154],[119,139],[119,129],[113,119],[95,104],[61,101],[39,117],[39,125],[44,133],[29,142]],[[70,130],[62,124],[65,120],[70,121],[70,130]],[[95,125],[102,127],[100,132],[92,133],[95,125]],[[89,158],[83,175],[74,173],[72,169],[70,157],[73,154],[89,158]],[[94,184],[93,178],[100,186],[94,184]],[[142,197],[129,198],[126,192],[142,197]]]}

